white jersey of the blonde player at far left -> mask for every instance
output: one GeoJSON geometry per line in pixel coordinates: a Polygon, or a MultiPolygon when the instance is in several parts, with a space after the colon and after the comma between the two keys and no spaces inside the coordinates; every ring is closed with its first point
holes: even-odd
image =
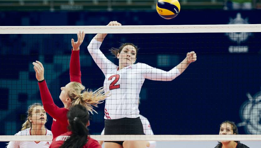
{"type": "MultiPolygon", "coordinates": [[[[21,130],[15,135],[31,135],[31,128],[21,130]]],[[[50,130],[46,129],[46,135],[53,135],[50,130]]],[[[28,137],[29,138],[29,137],[28,137]]],[[[52,141],[10,141],[7,148],[49,148],[52,141]]]]}

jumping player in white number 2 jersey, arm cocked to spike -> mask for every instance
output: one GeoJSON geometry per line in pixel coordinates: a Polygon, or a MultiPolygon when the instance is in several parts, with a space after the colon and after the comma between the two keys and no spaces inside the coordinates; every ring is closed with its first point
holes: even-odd
{"type": "MultiPolygon", "coordinates": [[[[112,21],[109,26],[121,25],[112,21]]],[[[171,81],[179,76],[187,66],[197,60],[194,51],[170,71],[153,68],[144,63],[134,64],[138,49],[131,43],[125,43],[111,52],[119,59],[119,66],[109,61],[100,51],[100,45],[107,34],[97,34],[88,45],[90,55],[105,75],[105,92],[110,97],[105,103],[105,135],[144,135],[139,118],[138,100],[145,79],[171,81]]],[[[105,141],[105,148],[135,147],[144,148],[141,141],[105,141]]]]}

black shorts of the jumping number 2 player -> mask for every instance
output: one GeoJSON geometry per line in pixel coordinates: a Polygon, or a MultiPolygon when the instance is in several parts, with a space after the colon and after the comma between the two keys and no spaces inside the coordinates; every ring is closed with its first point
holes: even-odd
{"type": "MultiPolygon", "coordinates": [[[[140,117],[105,119],[104,135],[144,135],[141,119],[140,117]]],[[[122,145],[124,141],[105,142],[114,142],[122,145]]]]}

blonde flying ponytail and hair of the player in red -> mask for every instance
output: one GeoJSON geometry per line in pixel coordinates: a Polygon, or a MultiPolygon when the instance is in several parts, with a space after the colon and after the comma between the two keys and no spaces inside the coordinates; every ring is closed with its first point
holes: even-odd
{"type": "Polygon", "coordinates": [[[88,111],[97,113],[93,107],[98,107],[98,104],[103,103],[105,98],[109,97],[109,92],[105,93],[103,87],[96,91],[85,90],[85,87],[79,82],[71,82],[70,88],[67,92],[68,97],[71,99],[71,107],[80,104],[88,111]],[[84,91],[82,93],[82,91],[84,91]]]}

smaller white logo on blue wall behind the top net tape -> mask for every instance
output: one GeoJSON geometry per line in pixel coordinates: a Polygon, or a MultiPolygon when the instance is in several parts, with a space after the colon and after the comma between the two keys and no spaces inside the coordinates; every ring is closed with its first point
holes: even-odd
{"type": "MultiPolygon", "coordinates": [[[[237,13],[237,16],[235,19],[230,18],[228,24],[249,24],[248,19],[243,19],[241,17],[241,13],[237,13]]],[[[248,46],[241,45],[241,43],[248,40],[248,37],[251,35],[249,32],[230,32],[226,33],[228,35],[229,39],[233,42],[236,42],[237,46],[229,46],[228,51],[230,53],[243,53],[248,52],[248,46]]]]}

